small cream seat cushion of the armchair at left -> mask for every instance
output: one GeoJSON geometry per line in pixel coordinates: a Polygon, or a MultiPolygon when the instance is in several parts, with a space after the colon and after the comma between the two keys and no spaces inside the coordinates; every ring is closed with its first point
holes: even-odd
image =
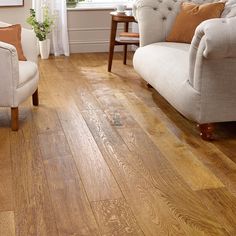
{"type": "Polygon", "coordinates": [[[18,87],[33,79],[38,73],[38,66],[31,61],[19,61],[18,87]]]}

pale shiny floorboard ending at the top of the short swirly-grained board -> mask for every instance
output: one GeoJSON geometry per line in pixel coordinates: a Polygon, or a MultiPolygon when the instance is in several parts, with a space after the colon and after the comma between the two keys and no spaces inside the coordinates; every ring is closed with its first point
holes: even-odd
{"type": "Polygon", "coordinates": [[[71,104],[69,108],[64,106],[61,110],[58,114],[62,127],[89,200],[99,201],[123,197],[76,105],[71,104]]]}

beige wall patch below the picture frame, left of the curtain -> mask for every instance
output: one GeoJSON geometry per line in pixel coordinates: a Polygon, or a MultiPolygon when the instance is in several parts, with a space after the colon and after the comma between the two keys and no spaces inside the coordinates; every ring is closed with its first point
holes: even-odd
{"type": "Polygon", "coordinates": [[[26,23],[31,8],[31,0],[24,0],[24,7],[0,7],[0,21],[11,24],[21,24],[23,27],[30,28],[26,23]]]}

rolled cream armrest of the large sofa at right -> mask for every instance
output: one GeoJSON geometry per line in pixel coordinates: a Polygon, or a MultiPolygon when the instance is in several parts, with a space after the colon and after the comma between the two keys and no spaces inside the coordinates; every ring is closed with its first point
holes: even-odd
{"type": "Polygon", "coordinates": [[[191,42],[189,56],[189,81],[197,90],[201,81],[197,78],[209,60],[236,60],[236,17],[217,18],[202,22],[191,42]]]}

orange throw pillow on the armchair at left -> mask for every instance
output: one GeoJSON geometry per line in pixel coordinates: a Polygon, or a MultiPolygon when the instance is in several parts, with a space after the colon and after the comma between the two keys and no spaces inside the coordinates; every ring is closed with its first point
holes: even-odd
{"type": "Polygon", "coordinates": [[[20,61],[26,61],[21,45],[21,25],[0,27],[0,41],[13,45],[20,61]]]}

